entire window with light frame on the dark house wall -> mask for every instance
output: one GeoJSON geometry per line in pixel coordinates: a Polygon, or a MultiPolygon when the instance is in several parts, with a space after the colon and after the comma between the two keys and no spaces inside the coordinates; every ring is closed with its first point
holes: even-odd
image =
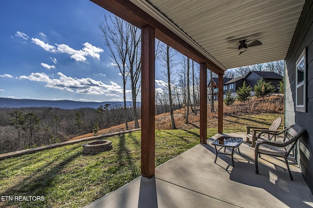
{"type": "Polygon", "coordinates": [[[306,48],[301,53],[300,57],[295,63],[296,65],[296,92],[295,103],[296,111],[306,112],[306,48]]]}

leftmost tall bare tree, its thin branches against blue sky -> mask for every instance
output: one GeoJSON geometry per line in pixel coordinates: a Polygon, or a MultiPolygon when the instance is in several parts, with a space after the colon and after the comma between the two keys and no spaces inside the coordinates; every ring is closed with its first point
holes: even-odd
{"type": "Polygon", "coordinates": [[[105,40],[105,45],[108,46],[115,62],[115,67],[119,69],[123,78],[124,121],[127,130],[126,80],[128,74],[126,73],[126,61],[131,37],[130,26],[128,22],[112,15],[109,15],[109,18],[105,15],[104,20],[98,26],[102,32],[101,36],[105,40]]]}

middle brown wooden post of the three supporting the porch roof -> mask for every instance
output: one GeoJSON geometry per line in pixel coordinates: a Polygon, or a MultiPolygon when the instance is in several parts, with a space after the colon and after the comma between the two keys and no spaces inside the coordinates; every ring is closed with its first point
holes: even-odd
{"type": "Polygon", "coordinates": [[[200,64],[200,143],[206,144],[207,137],[207,101],[206,101],[206,92],[207,92],[207,71],[206,63],[200,64]]]}

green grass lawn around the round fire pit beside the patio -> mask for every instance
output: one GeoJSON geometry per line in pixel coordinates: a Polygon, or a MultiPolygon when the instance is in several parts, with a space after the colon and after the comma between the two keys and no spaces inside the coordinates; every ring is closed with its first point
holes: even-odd
{"type": "MultiPolygon", "coordinates": [[[[224,117],[224,132],[269,126],[281,114],[224,117]]],[[[283,126],[283,125],[282,125],[283,126]]],[[[208,137],[217,128],[207,129],[208,137]]],[[[110,137],[113,149],[84,155],[82,145],[0,161],[0,197],[43,196],[43,201],[1,201],[0,207],[84,207],[140,176],[140,132],[110,137]]],[[[156,166],[199,144],[199,129],[156,131],[156,166]]]]}

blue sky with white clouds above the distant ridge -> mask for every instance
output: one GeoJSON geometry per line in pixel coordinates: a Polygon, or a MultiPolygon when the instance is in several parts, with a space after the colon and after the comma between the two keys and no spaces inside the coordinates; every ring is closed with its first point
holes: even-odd
{"type": "Polygon", "coordinates": [[[1,1],[0,97],[122,101],[122,78],[98,29],[105,13],[89,0],[1,1]]]}

